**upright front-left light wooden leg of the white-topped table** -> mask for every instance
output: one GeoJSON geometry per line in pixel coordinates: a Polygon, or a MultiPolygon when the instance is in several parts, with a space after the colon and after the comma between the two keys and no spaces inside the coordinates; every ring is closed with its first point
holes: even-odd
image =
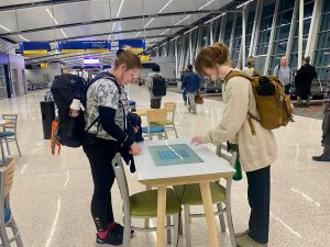
{"type": "Polygon", "coordinates": [[[165,213],[166,213],[166,187],[158,187],[157,193],[157,244],[164,246],[165,213]]]}

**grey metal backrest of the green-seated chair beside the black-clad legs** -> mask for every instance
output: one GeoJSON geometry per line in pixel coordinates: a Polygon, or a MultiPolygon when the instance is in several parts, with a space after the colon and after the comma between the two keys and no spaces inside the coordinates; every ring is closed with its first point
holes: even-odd
{"type": "Polygon", "coordinates": [[[129,215],[131,212],[130,207],[130,192],[128,186],[128,179],[125,175],[125,170],[122,164],[121,155],[118,153],[112,159],[112,167],[114,170],[117,183],[119,187],[120,195],[123,201],[123,213],[124,215],[129,215]]]}

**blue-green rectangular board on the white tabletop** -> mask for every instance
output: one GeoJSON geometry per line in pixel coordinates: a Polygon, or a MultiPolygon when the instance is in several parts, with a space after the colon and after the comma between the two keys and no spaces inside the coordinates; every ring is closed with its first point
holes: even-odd
{"type": "Polygon", "coordinates": [[[148,149],[157,167],[204,162],[186,144],[151,146],[148,149]]]}

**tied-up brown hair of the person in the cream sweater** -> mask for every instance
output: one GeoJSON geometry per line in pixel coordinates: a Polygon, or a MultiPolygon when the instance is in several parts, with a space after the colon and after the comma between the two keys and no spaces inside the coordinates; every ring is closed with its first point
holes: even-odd
{"type": "Polygon", "coordinates": [[[217,64],[229,64],[229,48],[223,43],[202,48],[195,60],[195,68],[199,74],[205,75],[205,68],[215,68],[217,64]]]}

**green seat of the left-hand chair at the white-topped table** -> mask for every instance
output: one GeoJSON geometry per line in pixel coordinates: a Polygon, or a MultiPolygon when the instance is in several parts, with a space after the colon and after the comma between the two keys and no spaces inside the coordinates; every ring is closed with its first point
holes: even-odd
{"type": "MultiPolygon", "coordinates": [[[[131,215],[138,217],[157,216],[157,190],[148,190],[130,195],[131,215]]],[[[173,189],[166,192],[166,214],[178,214],[180,204],[173,189]]]]}

